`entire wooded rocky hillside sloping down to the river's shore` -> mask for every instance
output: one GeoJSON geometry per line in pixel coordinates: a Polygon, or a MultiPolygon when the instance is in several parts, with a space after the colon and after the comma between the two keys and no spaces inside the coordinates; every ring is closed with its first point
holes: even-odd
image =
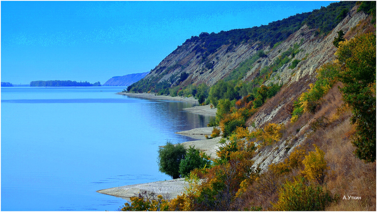
{"type": "Polygon", "coordinates": [[[122,94],[197,101],[215,119],[180,132],[205,139],[158,149],[183,189],[133,185],[121,209],[376,210],[375,8],[331,3],[178,46],[122,94]]]}

